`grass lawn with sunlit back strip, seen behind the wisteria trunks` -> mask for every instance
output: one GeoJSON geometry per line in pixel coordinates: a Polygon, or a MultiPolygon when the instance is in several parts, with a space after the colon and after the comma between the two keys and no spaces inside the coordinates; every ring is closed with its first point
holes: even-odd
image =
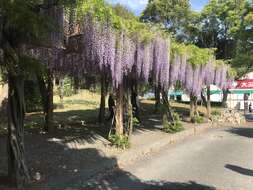
{"type": "MultiPolygon", "coordinates": [[[[61,101],[59,96],[54,96],[54,104],[56,107],[54,110],[54,120],[57,126],[74,127],[77,124],[80,125],[80,123],[89,127],[98,126],[97,117],[100,104],[99,93],[81,90],[80,93],[76,95],[64,97],[63,107],[60,106],[61,101]]],[[[143,119],[154,114],[154,104],[154,100],[141,100],[141,117],[143,119]]],[[[187,118],[189,116],[189,104],[172,101],[171,106],[181,117],[187,118]]],[[[205,115],[206,109],[204,106],[199,106],[198,109],[202,115],[205,115]]],[[[212,110],[221,111],[222,108],[213,107],[212,110]]],[[[41,130],[43,128],[43,114],[41,112],[26,114],[25,128],[28,130],[41,130]]],[[[0,127],[0,134],[4,133],[6,133],[6,124],[3,124],[2,127],[0,127]]]]}

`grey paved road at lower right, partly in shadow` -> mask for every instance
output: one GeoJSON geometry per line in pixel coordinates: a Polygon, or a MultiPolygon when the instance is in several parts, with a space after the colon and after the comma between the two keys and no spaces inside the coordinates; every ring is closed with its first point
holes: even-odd
{"type": "Polygon", "coordinates": [[[84,189],[253,190],[253,128],[213,129],[84,189]]]}

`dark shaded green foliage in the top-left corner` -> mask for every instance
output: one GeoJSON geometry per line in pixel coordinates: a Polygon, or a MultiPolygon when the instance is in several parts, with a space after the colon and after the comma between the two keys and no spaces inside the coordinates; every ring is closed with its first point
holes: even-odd
{"type": "Polygon", "coordinates": [[[49,31],[54,28],[53,21],[39,13],[40,0],[13,0],[0,3],[1,16],[5,19],[0,33],[3,34],[2,40],[8,41],[12,46],[46,39],[49,31]]]}

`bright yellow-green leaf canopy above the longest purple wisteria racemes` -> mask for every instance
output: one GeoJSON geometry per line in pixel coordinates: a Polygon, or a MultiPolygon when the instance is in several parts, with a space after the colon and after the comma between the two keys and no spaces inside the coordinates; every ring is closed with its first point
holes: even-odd
{"type": "Polygon", "coordinates": [[[157,35],[165,40],[169,38],[168,34],[159,25],[139,22],[133,13],[120,5],[113,7],[103,0],[87,0],[80,1],[77,10],[80,24],[83,22],[83,17],[90,15],[94,22],[107,24],[119,34],[124,32],[134,41],[137,40],[147,44],[157,35]]]}

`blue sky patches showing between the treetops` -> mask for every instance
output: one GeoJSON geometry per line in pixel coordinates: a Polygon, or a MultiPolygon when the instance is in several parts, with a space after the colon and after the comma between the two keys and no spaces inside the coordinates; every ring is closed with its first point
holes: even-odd
{"type": "MultiPolygon", "coordinates": [[[[120,3],[128,7],[132,10],[136,15],[140,15],[140,13],[145,9],[148,0],[106,0],[107,2],[116,4],[120,3]]],[[[196,11],[200,11],[203,6],[208,2],[208,0],[190,0],[192,9],[196,11]]]]}

